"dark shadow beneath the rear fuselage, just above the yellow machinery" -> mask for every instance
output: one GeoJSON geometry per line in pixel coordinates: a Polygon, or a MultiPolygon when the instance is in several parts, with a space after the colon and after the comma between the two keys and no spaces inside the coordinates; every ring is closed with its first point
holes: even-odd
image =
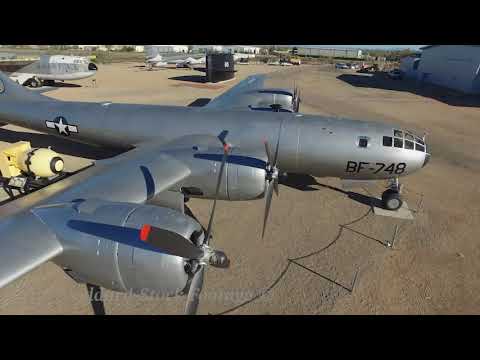
{"type": "Polygon", "coordinates": [[[52,150],[66,155],[102,160],[125,152],[127,149],[112,149],[80,144],[46,134],[20,132],[0,128],[0,141],[15,143],[29,141],[32,147],[52,147],[52,150]]]}

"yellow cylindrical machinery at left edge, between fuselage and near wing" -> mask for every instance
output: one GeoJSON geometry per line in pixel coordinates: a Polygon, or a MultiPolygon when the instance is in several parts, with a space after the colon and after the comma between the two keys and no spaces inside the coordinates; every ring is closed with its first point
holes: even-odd
{"type": "Polygon", "coordinates": [[[28,141],[19,141],[0,149],[0,175],[49,178],[63,171],[63,159],[53,150],[34,148],[28,141]]]}

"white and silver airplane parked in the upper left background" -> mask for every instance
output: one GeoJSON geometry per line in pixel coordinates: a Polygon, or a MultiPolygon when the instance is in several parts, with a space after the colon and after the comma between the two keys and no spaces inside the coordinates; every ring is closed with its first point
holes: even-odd
{"type": "Polygon", "coordinates": [[[16,69],[10,78],[17,83],[38,88],[53,86],[55,81],[80,80],[96,74],[97,65],[81,56],[42,55],[38,61],[16,69]]]}

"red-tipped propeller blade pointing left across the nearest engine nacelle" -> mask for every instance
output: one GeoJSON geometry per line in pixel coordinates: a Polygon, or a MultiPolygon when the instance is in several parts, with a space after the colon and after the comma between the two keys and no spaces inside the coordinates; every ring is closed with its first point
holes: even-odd
{"type": "Polygon", "coordinates": [[[185,259],[200,259],[204,252],[183,236],[151,225],[143,225],[140,240],[159,249],[165,254],[180,256],[185,259]]]}

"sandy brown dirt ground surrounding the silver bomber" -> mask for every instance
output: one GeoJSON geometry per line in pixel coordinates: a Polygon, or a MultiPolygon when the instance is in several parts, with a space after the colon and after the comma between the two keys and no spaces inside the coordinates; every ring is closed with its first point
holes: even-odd
{"type": "MultiPolygon", "coordinates": [[[[208,268],[200,314],[480,313],[480,107],[419,91],[407,81],[331,66],[239,65],[236,80],[207,86],[192,70],[149,72],[139,65],[104,65],[96,87],[86,79],[75,82],[80,87],[48,94],[62,100],[189,105],[221,94],[249,74],[273,72],[272,84],[295,81],[300,87],[304,113],[384,120],[428,133],[432,160],[402,180],[413,221],[375,216],[342,192],[338,179],[317,179],[310,191],[281,186],[264,239],[262,200],[220,202],[214,244],[232,265],[208,268]],[[393,238],[393,248],[388,247],[393,238]]],[[[32,140],[35,146],[35,135],[20,130],[3,127],[0,141],[32,140]]],[[[55,150],[58,142],[51,141],[55,150]]],[[[79,164],[73,157],[67,161],[79,164]]],[[[382,185],[356,191],[378,196],[382,185]]],[[[201,222],[208,221],[209,201],[188,205],[201,222]]],[[[110,291],[104,298],[109,314],[181,314],[185,304],[185,297],[110,291]]],[[[91,313],[85,286],[52,263],[0,289],[0,314],[91,313]]]]}

